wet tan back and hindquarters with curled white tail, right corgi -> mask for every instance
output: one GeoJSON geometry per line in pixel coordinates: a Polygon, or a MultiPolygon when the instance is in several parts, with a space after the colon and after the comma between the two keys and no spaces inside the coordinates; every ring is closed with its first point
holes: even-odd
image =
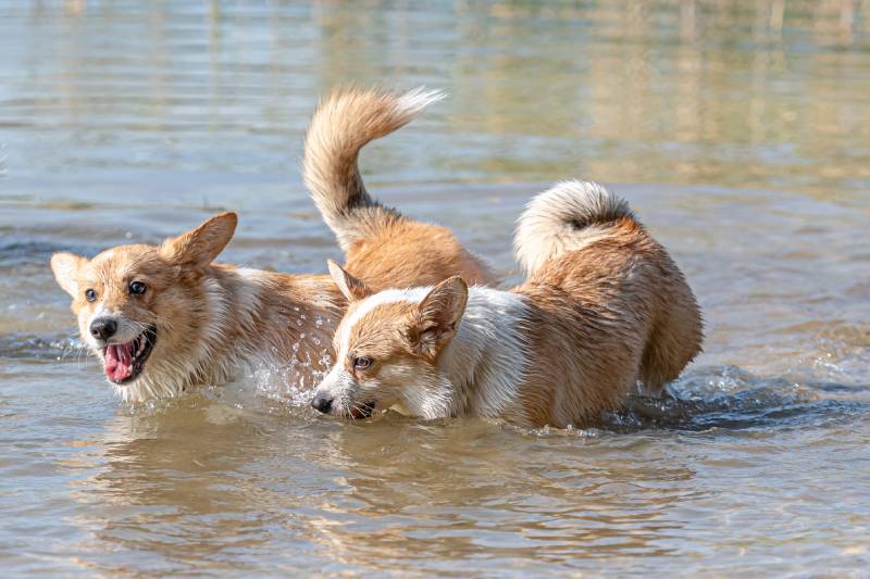
{"type": "Polygon", "coordinates": [[[522,398],[550,415],[532,421],[617,408],[638,379],[659,392],[700,352],[700,312],[685,278],[604,187],[567,181],[537,196],[515,249],[529,279],[514,291],[534,304],[530,342],[546,361],[531,361],[522,398]]]}

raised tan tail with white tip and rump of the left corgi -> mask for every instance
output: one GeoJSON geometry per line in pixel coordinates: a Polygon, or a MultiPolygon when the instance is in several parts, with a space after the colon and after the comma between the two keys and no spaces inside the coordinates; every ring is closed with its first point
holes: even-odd
{"type": "Polygon", "coordinates": [[[417,285],[440,281],[443,272],[433,269],[433,263],[462,272],[472,284],[495,281],[450,230],[381,205],[369,196],[360,176],[363,146],[405,126],[440,98],[422,89],[406,93],[337,90],[320,104],[306,137],[302,175],[314,204],[346,252],[348,270],[382,287],[405,287],[408,280],[417,285]]]}

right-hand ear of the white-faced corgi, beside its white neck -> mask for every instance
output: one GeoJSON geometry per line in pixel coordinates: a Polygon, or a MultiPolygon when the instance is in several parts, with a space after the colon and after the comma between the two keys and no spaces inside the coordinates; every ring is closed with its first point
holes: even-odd
{"type": "Polygon", "coordinates": [[[469,287],[459,276],[448,277],[423,298],[408,335],[421,355],[434,358],[447,345],[462,320],[468,300],[469,287]]]}

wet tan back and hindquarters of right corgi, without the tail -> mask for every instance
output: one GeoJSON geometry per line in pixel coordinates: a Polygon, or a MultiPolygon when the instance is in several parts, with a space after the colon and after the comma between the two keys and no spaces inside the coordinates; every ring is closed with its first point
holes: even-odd
{"type": "Polygon", "coordinates": [[[675,274],[664,249],[625,217],[512,290],[534,304],[529,342],[539,362],[520,387],[531,424],[586,425],[618,410],[637,380],[658,392],[679,376],[700,349],[700,325],[696,310],[671,307],[685,298],[675,274]],[[657,331],[663,319],[682,335],[657,331]],[[691,341],[679,343],[684,337],[691,341]],[[673,357],[654,365],[669,373],[646,375],[645,352],[672,345],[673,357]]]}

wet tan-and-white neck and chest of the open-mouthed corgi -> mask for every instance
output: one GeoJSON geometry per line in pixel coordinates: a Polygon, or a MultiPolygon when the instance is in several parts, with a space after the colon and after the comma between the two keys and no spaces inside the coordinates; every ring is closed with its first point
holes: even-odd
{"type": "MultiPolygon", "coordinates": [[[[190,342],[122,390],[125,400],[169,398],[254,373],[311,388],[332,363],[344,304],[328,276],[216,265],[200,280],[203,309],[190,342]]],[[[158,338],[159,339],[159,338],[158,338]]]]}

